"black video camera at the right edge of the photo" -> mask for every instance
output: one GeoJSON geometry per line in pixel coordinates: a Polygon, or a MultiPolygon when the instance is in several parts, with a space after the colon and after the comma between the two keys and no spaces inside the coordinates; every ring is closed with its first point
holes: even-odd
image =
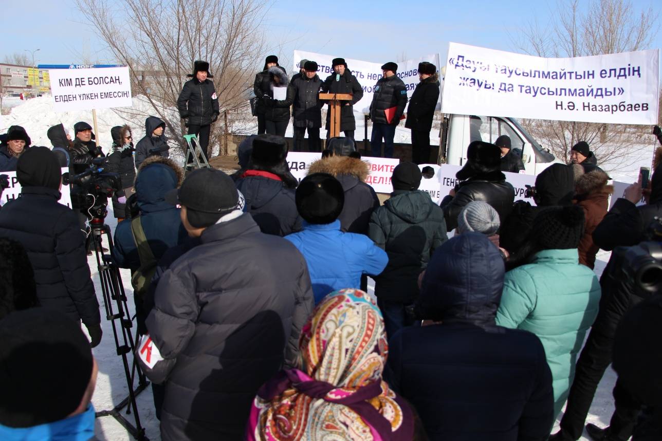
{"type": "Polygon", "coordinates": [[[644,298],[662,292],[662,219],[655,217],[646,235],[647,242],[614,250],[622,257],[624,277],[632,281],[634,293],[644,298]]]}

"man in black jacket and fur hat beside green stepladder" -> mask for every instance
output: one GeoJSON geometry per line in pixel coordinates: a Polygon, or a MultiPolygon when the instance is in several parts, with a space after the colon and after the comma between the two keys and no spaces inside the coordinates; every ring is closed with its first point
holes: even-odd
{"type": "Polygon", "coordinates": [[[189,128],[188,134],[197,135],[205,158],[208,158],[211,123],[220,114],[214,82],[209,79],[214,75],[209,72],[209,63],[198,60],[193,63],[193,74],[187,76],[193,78],[184,83],[177,99],[177,109],[189,128]]]}

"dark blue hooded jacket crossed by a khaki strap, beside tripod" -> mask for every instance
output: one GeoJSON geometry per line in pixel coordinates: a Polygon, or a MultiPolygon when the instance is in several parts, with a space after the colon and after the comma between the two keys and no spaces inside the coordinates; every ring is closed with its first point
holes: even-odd
{"type": "MultiPolygon", "coordinates": [[[[166,202],[166,193],[179,186],[181,168],[162,156],[150,156],[142,163],[136,177],[136,196],[140,207],[140,223],[157,262],[168,248],[181,243],[187,233],[179,219],[179,209],[166,202]]],[[[138,248],[131,232],[131,219],[115,228],[113,258],[120,268],[140,267],[138,248]]]]}

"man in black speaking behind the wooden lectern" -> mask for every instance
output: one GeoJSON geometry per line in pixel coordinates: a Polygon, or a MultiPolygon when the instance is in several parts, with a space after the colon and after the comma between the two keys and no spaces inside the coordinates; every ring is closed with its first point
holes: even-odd
{"type": "MultiPolygon", "coordinates": [[[[347,138],[354,139],[354,130],[356,130],[356,121],[354,120],[354,105],[363,97],[363,87],[352,71],[347,68],[344,58],[334,58],[331,62],[334,74],[329,75],[322,84],[324,93],[350,93],[352,100],[340,101],[340,130],[345,132],[347,138]]],[[[326,113],[326,138],[330,136],[331,128],[331,105],[326,113]]]]}

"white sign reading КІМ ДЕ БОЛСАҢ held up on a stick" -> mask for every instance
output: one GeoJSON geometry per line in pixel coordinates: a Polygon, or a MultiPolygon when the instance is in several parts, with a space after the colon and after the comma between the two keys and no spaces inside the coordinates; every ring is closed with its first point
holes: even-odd
{"type": "Polygon", "coordinates": [[[56,112],[133,105],[128,67],[52,69],[48,72],[56,112]]]}

